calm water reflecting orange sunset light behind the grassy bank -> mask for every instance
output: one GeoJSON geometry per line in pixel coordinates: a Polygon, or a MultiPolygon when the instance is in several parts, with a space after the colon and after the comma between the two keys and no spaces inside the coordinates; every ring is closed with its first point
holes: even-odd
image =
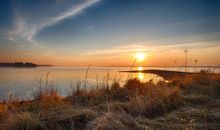
{"type": "MultiPolygon", "coordinates": [[[[128,73],[120,73],[121,70],[129,70],[128,67],[91,67],[88,70],[87,86],[91,87],[97,83],[111,83],[115,79],[121,84],[128,77],[128,73]]],[[[152,68],[137,67],[135,69],[163,69],[179,70],[179,68],[152,68]]],[[[206,68],[207,69],[207,68],[206,68]]],[[[38,68],[0,68],[0,100],[7,99],[10,93],[13,93],[20,99],[33,98],[39,90],[40,79],[42,85],[45,85],[46,75],[55,88],[59,89],[61,95],[70,94],[70,88],[74,88],[78,82],[83,82],[86,77],[86,67],[38,67],[38,68]]],[[[199,71],[200,69],[197,69],[199,71]]],[[[194,68],[188,68],[188,71],[195,71],[194,68]]],[[[215,68],[216,73],[220,72],[215,68]]],[[[145,82],[153,79],[154,82],[163,80],[154,74],[135,73],[130,76],[136,77],[145,82]]]]}

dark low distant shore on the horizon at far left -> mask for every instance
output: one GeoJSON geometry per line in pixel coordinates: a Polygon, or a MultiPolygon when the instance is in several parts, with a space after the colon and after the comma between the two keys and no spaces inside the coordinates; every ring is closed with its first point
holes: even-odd
{"type": "Polygon", "coordinates": [[[29,62],[14,62],[14,63],[0,63],[0,67],[15,67],[15,68],[34,68],[34,67],[49,67],[53,65],[38,65],[29,62]]]}

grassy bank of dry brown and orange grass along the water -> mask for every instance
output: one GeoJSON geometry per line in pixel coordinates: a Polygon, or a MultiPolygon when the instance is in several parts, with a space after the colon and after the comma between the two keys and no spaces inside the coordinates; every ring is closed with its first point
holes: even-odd
{"type": "Polygon", "coordinates": [[[76,85],[67,97],[53,87],[32,101],[0,105],[0,129],[217,130],[220,128],[220,75],[199,73],[170,82],[76,85]]]}

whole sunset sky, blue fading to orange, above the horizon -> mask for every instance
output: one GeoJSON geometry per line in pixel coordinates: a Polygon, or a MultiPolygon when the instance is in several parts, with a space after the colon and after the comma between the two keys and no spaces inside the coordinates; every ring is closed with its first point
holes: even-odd
{"type": "Polygon", "coordinates": [[[0,2],[0,62],[220,66],[219,0],[0,2]]]}

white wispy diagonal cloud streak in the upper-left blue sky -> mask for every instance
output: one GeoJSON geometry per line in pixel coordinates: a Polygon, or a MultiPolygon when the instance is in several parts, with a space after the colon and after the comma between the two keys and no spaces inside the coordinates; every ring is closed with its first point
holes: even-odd
{"type": "Polygon", "coordinates": [[[55,25],[60,21],[74,17],[87,8],[91,7],[100,0],[86,0],[85,2],[79,3],[72,6],[65,12],[62,12],[54,17],[38,19],[34,22],[28,22],[28,18],[22,16],[16,16],[15,18],[15,30],[9,32],[9,40],[26,40],[28,42],[37,44],[37,41],[34,40],[34,36],[41,31],[42,29],[55,25]]]}

